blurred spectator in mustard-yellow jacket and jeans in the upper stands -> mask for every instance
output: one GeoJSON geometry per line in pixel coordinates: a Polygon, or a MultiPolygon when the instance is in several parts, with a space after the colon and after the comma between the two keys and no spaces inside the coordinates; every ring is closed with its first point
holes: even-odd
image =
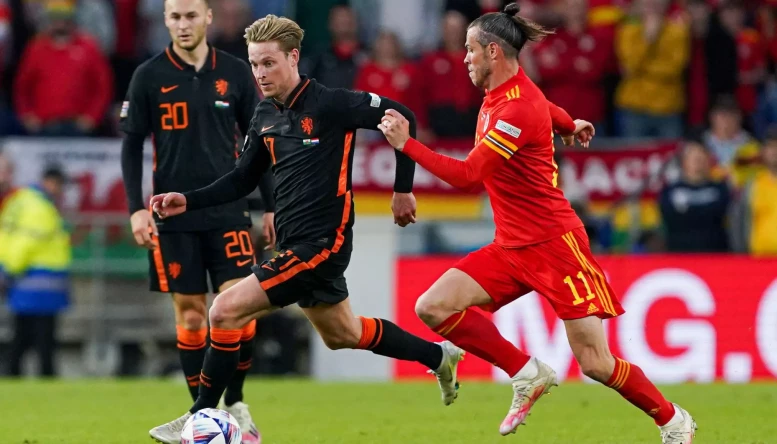
{"type": "Polygon", "coordinates": [[[615,100],[626,137],[683,134],[689,29],[665,17],[667,6],[668,0],[638,0],[636,19],[616,35],[623,79],[615,100]]]}

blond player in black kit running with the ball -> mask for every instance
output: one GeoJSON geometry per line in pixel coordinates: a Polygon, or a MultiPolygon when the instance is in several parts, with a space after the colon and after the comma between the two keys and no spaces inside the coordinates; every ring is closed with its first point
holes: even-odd
{"type": "MultiPolygon", "coordinates": [[[[414,132],[413,113],[385,97],[330,89],[300,77],[302,36],[296,23],[274,15],[246,30],[249,61],[266,98],[254,112],[236,167],[205,188],[151,199],[153,210],[172,221],[184,212],[245,196],[270,166],[281,252],[254,266],[253,276],[214,301],[209,312],[211,347],[199,397],[182,417],[150,431],[160,442],[179,442],[189,416],[216,407],[237,367],[243,325],[267,310],[293,303],[329,348],[366,349],[417,361],[437,376],[444,404],[456,397],[456,368],[463,352],[450,343],[425,341],[385,319],[354,316],[343,275],[352,249],[354,133],[358,128],[377,130],[387,109],[402,113],[414,132]]],[[[415,221],[414,169],[415,163],[397,152],[392,209],[400,226],[415,221]]]]}

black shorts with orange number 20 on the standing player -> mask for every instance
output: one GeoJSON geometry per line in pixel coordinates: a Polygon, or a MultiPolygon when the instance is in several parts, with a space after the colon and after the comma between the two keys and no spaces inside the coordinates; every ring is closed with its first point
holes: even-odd
{"type": "Polygon", "coordinates": [[[151,291],[181,294],[212,292],[227,281],[251,275],[256,263],[248,227],[213,231],[161,232],[149,252],[151,291]],[[207,273],[207,274],[206,274],[207,273]]]}

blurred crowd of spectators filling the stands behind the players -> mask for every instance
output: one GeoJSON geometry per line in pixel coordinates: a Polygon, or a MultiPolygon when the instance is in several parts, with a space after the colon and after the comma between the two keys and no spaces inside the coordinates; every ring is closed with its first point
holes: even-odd
{"type": "MultiPolygon", "coordinates": [[[[294,18],[306,32],[303,73],[405,103],[419,138],[433,142],[471,137],[482,91],[463,65],[466,27],[507,2],[210,3],[217,48],[245,59],[253,20],[294,18]]],[[[556,29],[521,56],[550,100],[594,122],[598,137],[686,140],[682,179],[660,197],[667,248],[777,254],[774,239],[744,234],[768,223],[756,237],[777,238],[775,0],[519,3],[522,15],[556,29]],[[705,224],[716,226],[671,234],[705,224]]],[[[0,135],[118,136],[132,72],[169,44],[163,8],[164,0],[0,0],[0,135]]]]}

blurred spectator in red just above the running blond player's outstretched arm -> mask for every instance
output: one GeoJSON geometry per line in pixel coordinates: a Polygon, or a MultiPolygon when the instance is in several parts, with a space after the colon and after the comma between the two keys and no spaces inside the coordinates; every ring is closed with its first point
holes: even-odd
{"type": "Polygon", "coordinates": [[[357,72],[354,87],[396,100],[418,113],[417,79],[416,66],[405,59],[396,34],[383,31],[375,41],[372,59],[357,72]]]}

